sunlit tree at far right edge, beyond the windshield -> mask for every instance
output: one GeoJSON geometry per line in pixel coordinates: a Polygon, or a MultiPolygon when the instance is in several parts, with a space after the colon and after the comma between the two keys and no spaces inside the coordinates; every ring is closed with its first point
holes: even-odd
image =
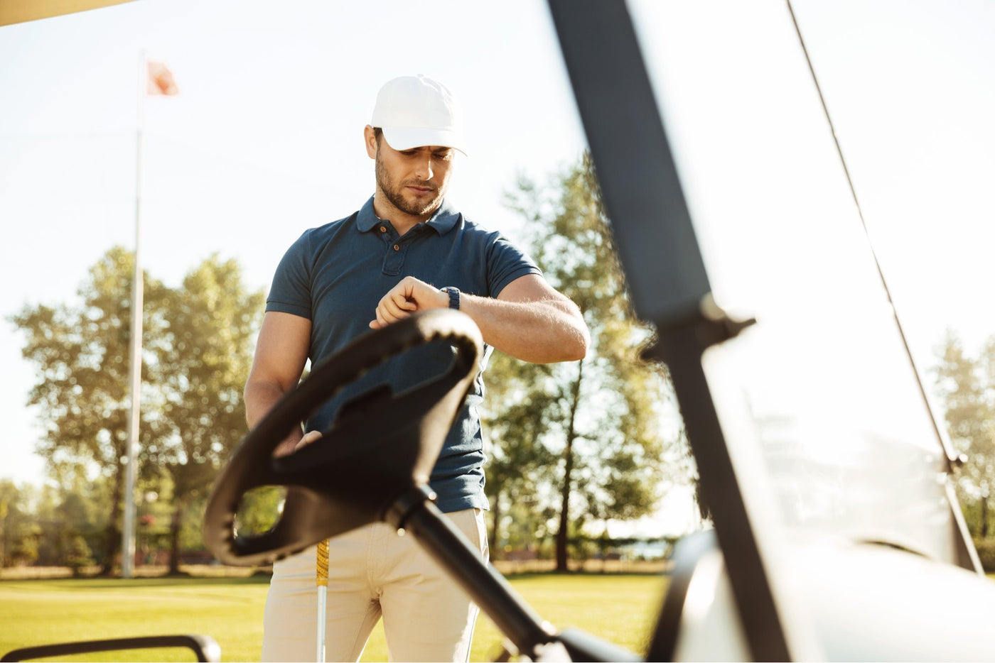
{"type": "Polygon", "coordinates": [[[957,494],[971,534],[991,533],[995,489],[995,337],[980,357],[970,357],[956,334],[947,332],[935,369],[936,388],[947,430],[956,449],[967,456],[957,474],[957,494]]]}

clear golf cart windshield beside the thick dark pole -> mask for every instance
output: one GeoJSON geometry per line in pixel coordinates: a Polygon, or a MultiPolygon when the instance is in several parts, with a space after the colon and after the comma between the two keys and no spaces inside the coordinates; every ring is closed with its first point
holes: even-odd
{"type": "Polygon", "coordinates": [[[630,7],[711,292],[757,320],[702,358],[740,480],[792,530],[952,561],[946,453],[790,14],[630,7]]]}

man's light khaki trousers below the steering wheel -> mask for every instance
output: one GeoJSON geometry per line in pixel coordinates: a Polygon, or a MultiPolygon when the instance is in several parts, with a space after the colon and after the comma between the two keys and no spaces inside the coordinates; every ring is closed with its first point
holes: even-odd
{"type": "MultiPolygon", "coordinates": [[[[487,562],[480,509],[446,514],[487,562]]],[[[316,553],[277,562],[263,618],[263,661],[313,661],[316,553]]],[[[412,536],[375,523],[331,539],[325,660],[358,661],[383,617],[391,661],[468,661],[478,608],[412,536]]]]}

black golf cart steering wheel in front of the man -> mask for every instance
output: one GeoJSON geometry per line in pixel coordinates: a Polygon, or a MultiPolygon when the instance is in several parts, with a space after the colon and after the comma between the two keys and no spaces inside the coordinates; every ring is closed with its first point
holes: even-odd
{"type": "Polygon", "coordinates": [[[204,515],[211,552],[224,564],[269,565],[384,520],[399,495],[428,483],[477,376],[483,344],[469,316],[435,309],[363,334],[328,358],[242,439],[218,475],[204,515]],[[294,426],[369,369],[436,342],[455,351],[445,372],[399,394],[371,390],[337,414],[317,440],[274,457],[294,426]],[[262,486],[288,487],[283,512],[265,534],[238,536],[243,496],[262,486]]]}

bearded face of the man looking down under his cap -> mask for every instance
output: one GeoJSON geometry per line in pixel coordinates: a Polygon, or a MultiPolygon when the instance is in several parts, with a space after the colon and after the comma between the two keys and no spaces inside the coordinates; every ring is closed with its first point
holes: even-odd
{"type": "Polygon", "coordinates": [[[376,146],[376,184],[400,212],[428,220],[449,187],[453,148],[430,145],[398,151],[381,136],[376,146]]]}

